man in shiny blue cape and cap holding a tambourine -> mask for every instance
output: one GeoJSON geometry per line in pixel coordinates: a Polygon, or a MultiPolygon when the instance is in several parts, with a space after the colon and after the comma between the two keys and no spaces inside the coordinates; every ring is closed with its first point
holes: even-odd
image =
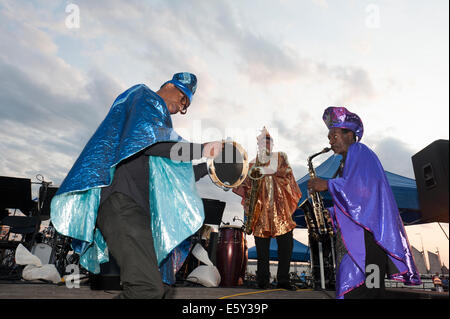
{"type": "MultiPolygon", "coordinates": [[[[194,74],[177,73],[157,92],[140,84],[120,94],[52,199],[52,224],[73,238],[84,268],[99,273],[115,257],[121,298],[163,297],[162,280],[173,283],[186,239],[203,224],[193,154],[173,160],[172,152],[186,142],[171,115],[186,113],[196,87],[194,74]]],[[[197,158],[217,147],[192,145],[197,158]]]]}

